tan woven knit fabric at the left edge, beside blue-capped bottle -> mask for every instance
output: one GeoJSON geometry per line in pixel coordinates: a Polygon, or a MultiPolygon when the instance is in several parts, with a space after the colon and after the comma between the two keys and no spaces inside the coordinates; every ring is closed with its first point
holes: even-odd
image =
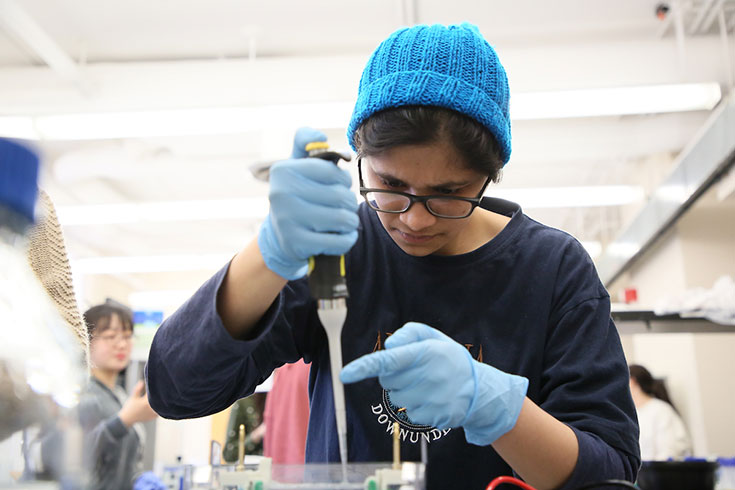
{"type": "Polygon", "coordinates": [[[38,192],[36,214],[39,220],[28,233],[28,260],[61,317],[79,339],[89,367],[89,338],[74,296],[64,235],[51,198],[41,189],[38,192]]]}

